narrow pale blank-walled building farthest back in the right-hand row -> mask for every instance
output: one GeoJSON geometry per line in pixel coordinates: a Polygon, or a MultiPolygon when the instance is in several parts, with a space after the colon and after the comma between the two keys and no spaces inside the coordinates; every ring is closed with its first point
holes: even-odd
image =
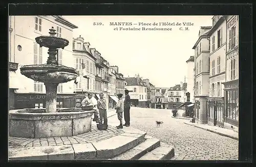
{"type": "Polygon", "coordinates": [[[187,101],[194,102],[194,56],[190,56],[190,58],[186,61],[187,63],[187,101]]]}

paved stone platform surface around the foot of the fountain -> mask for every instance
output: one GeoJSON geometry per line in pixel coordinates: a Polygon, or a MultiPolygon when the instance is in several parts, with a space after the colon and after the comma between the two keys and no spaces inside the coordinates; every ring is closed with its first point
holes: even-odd
{"type": "Polygon", "coordinates": [[[83,143],[94,143],[106,140],[124,133],[121,129],[108,126],[107,130],[98,130],[96,125],[92,125],[92,131],[75,136],[45,137],[45,138],[24,138],[9,136],[9,148],[39,147],[39,146],[60,146],[83,143]]]}

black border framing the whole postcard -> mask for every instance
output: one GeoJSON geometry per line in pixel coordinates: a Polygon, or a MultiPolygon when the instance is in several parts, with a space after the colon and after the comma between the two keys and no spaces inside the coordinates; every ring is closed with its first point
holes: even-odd
{"type": "MultiPolygon", "coordinates": [[[[1,14],[5,17],[1,17],[2,22],[6,22],[8,25],[8,6],[1,7],[1,14]]],[[[9,6],[9,13],[11,15],[239,15],[240,20],[240,36],[239,36],[239,93],[240,93],[240,114],[239,120],[239,159],[240,161],[247,161],[241,164],[240,162],[218,161],[218,165],[231,164],[232,166],[249,166],[252,160],[252,5],[251,4],[15,4],[9,6]]],[[[8,32],[8,27],[4,27],[3,24],[1,29],[4,29],[1,35],[1,45],[3,48],[7,48],[7,35],[4,36],[4,32],[8,32]],[[2,39],[2,38],[6,39],[2,39]],[[4,41],[2,43],[2,41],[4,41]]],[[[2,51],[7,49],[2,49],[2,51]]],[[[1,56],[1,72],[7,74],[7,57],[4,53],[1,56]]],[[[7,76],[8,77],[8,76],[7,76]]],[[[6,77],[6,78],[7,78],[6,77]]],[[[7,93],[7,83],[5,79],[2,79],[1,88],[7,93]]],[[[4,102],[7,104],[8,98],[1,96],[1,104],[4,102]]],[[[7,105],[6,105],[7,111],[7,105]]],[[[7,113],[2,114],[1,119],[1,147],[4,145],[7,147],[8,138],[7,133],[7,113]],[[6,117],[3,117],[6,116],[6,117]],[[5,132],[5,133],[4,133],[5,132]],[[3,137],[6,136],[6,137],[3,137]],[[4,140],[3,140],[4,138],[4,140]]],[[[7,149],[0,149],[1,163],[7,162],[7,149]]],[[[216,165],[216,161],[174,161],[174,162],[162,162],[157,161],[157,163],[152,161],[143,162],[144,164],[152,165],[186,165],[198,166],[200,164],[216,165]],[[189,163],[187,163],[189,162],[189,163]]],[[[142,163],[136,161],[129,161],[128,163],[120,164],[118,161],[112,161],[111,163],[106,162],[96,162],[96,161],[83,161],[74,163],[71,161],[72,165],[141,165],[142,163]]],[[[8,165],[63,165],[64,162],[8,162],[8,165]]],[[[6,164],[4,164],[5,166],[6,164]]]]}

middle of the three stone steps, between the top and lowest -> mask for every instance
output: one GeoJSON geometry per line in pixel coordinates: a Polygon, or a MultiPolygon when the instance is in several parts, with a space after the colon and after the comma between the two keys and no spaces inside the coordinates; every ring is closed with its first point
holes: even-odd
{"type": "Polygon", "coordinates": [[[145,155],[147,152],[150,152],[160,146],[160,140],[153,137],[147,137],[145,137],[146,140],[143,143],[112,158],[112,160],[137,160],[143,155],[145,155]]]}

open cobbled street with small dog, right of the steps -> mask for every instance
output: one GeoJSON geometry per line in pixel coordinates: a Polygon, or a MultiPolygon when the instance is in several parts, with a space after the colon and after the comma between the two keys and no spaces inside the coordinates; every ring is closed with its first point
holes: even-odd
{"type": "Polygon", "coordinates": [[[175,160],[238,159],[239,141],[186,125],[189,120],[172,118],[171,110],[131,107],[130,114],[132,127],[175,147],[175,160]],[[156,127],[156,121],[163,124],[156,127]]]}

